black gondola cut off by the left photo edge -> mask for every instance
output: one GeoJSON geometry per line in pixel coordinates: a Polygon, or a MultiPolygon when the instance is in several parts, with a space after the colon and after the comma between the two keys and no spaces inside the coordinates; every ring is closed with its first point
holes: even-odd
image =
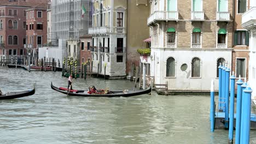
{"type": "Polygon", "coordinates": [[[0,99],[15,99],[15,98],[27,97],[29,95],[33,95],[35,91],[36,91],[36,89],[33,88],[30,91],[9,92],[9,93],[0,95],[0,99]]]}

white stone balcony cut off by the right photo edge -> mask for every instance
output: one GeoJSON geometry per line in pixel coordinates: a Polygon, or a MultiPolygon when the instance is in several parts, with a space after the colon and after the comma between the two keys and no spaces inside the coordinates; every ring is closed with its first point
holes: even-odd
{"type": "Polygon", "coordinates": [[[242,27],[255,28],[256,27],[256,7],[252,7],[242,15],[242,27]]]}

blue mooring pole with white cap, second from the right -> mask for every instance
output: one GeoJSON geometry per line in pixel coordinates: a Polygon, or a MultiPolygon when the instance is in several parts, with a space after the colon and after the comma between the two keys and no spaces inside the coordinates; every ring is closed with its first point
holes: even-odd
{"type": "Polygon", "coordinates": [[[242,104],[242,87],[243,81],[239,75],[239,80],[237,84],[237,93],[236,93],[236,144],[240,144],[240,129],[241,129],[241,104],[242,104]]]}

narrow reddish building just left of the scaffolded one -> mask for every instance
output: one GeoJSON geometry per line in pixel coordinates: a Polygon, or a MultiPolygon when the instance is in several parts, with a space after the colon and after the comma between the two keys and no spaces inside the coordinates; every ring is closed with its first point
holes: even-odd
{"type": "Polygon", "coordinates": [[[26,10],[26,45],[24,47],[38,59],[38,48],[47,44],[47,4],[26,10]]]}

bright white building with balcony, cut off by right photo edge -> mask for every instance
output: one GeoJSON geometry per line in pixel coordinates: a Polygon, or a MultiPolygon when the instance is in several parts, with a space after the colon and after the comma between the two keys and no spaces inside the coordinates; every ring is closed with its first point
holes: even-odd
{"type": "Polygon", "coordinates": [[[252,96],[256,97],[256,2],[250,2],[250,8],[242,15],[242,27],[249,31],[249,86],[254,90],[252,96]]]}

